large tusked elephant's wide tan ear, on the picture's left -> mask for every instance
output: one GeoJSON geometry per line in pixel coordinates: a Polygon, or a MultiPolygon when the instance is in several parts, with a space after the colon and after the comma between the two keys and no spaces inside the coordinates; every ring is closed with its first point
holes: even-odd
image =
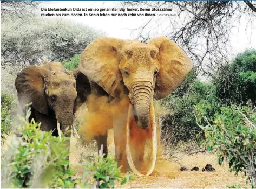
{"type": "Polygon", "coordinates": [[[113,97],[123,91],[119,52],[125,43],[126,40],[116,38],[97,38],[80,57],[80,71],[113,97]]]}

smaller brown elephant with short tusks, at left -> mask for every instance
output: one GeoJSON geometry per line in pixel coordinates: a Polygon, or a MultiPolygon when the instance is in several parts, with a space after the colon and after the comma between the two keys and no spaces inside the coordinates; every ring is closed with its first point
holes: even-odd
{"type": "MultiPolygon", "coordinates": [[[[40,129],[51,130],[56,137],[60,130],[70,137],[74,113],[90,93],[89,80],[78,68],[67,71],[60,62],[50,61],[24,68],[17,74],[15,87],[23,111],[32,102],[29,121],[41,122],[40,129]]],[[[69,149],[70,141],[65,142],[69,149]]]]}

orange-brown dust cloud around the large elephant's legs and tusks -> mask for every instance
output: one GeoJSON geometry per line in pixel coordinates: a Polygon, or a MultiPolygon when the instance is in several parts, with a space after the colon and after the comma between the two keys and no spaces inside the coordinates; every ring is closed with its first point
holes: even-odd
{"type": "MultiPolygon", "coordinates": [[[[120,145],[124,146],[125,141],[125,125],[127,120],[128,114],[128,107],[129,107],[129,99],[128,97],[124,97],[119,102],[111,102],[109,104],[109,98],[107,96],[95,96],[90,95],[87,101],[88,111],[83,113],[81,119],[84,120],[83,124],[81,125],[80,131],[84,136],[84,141],[90,142],[95,136],[100,136],[106,134],[106,132],[110,129],[113,129],[113,115],[115,123],[124,124],[120,125],[123,127],[118,132],[115,131],[115,135],[120,135],[123,140],[121,144],[117,144],[117,149],[123,149],[123,158],[126,158],[125,148],[120,148],[120,145]]],[[[154,172],[168,172],[170,170],[177,170],[178,164],[170,162],[168,158],[164,155],[165,153],[165,145],[161,143],[160,139],[160,130],[162,124],[162,117],[169,114],[169,110],[162,107],[160,102],[154,102],[154,109],[155,109],[155,119],[157,125],[157,159],[154,172]]],[[[147,165],[150,164],[151,152],[152,152],[152,144],[151,144],[151,137],[152,137],[152,129],[149,126],[146,130],[140,129],[134,117],[130,120],[130,148],[132,150],[132,158],[136,164],[139,158],[138,150],[144,149],[144,166],[143,171],[147,171],[147,165]]],[[[108,140],[112,141],[111,145],[114,144],[114,135],[111,133],[108,135],[108,140]]],[[[110,152],[114,154],[113,152],[110,152]]],[[[124,165],[125,166],[125,165],[124,165]]]]}

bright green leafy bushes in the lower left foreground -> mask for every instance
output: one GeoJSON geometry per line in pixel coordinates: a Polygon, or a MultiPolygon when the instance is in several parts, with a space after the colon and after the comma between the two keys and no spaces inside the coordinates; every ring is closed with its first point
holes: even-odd
{"type": "Polygon", "coordinates": [[[69,150],[65,141],[70,138],[55,137],[50,132],[40,130],[41,123],[31,122],[27,115],[20,117],[21,127],[17,137],[9,144],[5,156],[1,156],[1,186],[11,188],[88,188],[88,174],[98,180],[100,187],[114,188],[115,181],[121,185],[129,180],[129,175],[122,177],[114,158],[98,157],[96,165],[86,164],[83,180],[76,177],[77,170],[68,167],[69,150]],[[99,180],[101,179],[101,181],[99,180]]]}

